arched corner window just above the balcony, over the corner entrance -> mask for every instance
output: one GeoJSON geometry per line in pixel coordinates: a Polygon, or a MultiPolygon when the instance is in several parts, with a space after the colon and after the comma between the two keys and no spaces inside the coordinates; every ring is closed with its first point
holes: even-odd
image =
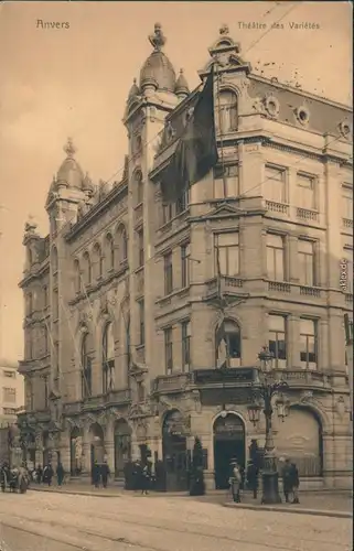
{"type": "Polygon", "coordinates": [[[224,320],[215,334],[216,365],[222,367],[227,360],[229,367],[239,367],[242,360],[242,338],[238,324],[224,320]]]}

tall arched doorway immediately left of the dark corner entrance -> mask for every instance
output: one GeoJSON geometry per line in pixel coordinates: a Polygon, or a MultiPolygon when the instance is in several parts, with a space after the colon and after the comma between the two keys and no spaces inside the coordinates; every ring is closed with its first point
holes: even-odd
{"type": "Polygon", "coordinates": [[[169,412],[162,424],[162,455],[167,491],[187,489],[187,452],[184,419],[180,411],[169,412]]]}

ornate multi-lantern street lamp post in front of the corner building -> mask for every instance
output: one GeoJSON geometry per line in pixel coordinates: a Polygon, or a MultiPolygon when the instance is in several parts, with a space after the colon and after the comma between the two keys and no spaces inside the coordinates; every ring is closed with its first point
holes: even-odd
{"type": "Polygon", "coordinates": [[[253,403],[248,408],[249,420],[256,425],[262,409],[266,419],[266,443],[262,465],[262,504],[279,504],[281,497],[278,488],[277,457],[272,439],[273,398],[278,417],[283,421],[289,413],[289,401],[285,400],[282,392],[288,389],[283,380],[275,380],[272,371],[273,354],[264,347],[258,355],[260,368],[258,378],[253,383],[253,403]]]}

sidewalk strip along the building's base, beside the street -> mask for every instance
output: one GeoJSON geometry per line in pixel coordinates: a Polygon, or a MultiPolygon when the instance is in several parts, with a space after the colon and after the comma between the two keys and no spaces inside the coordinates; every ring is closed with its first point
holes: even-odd
{"type": "MultiPolygon", "coordinates": [[[[45,486],[31,484],[29,491],[49,491],[61,493],[78,496],[92,497],[116,497],[121,498],[125,496],[140,497],[140,491],[128,491],[124,489],[121,484],[112,484],[107,488],[94,488],[89,484],[82,483],[67,483],[61,488],[56,485],[45,486]]],[[[211,503],[222,505],[230,508],[244,508],[251,510],[269,510],[269,511],[287,511],[294,514],[308,515],[323,515],[332,517],[352,518],[353,517],[353,494],[344,490],[319,490],[300,493],[300,504],[280,504],[279,506],[260,505],[260,495],[257,500],[254,500],[248,491],[243,493],[242,504],[234,504],[230,501],[229,493],[225,490],[210,490],[204,496],[190,496],[186,491],[151,491],[148,498],[161,497],[178,497],[189,498],[195,501],[211,503]]]]}

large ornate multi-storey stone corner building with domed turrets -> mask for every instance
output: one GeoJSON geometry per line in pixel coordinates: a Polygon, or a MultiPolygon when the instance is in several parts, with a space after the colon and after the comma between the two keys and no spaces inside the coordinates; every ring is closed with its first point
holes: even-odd
{"type": "Polygon", "coordinates": [[[250,441],[264,443],[264,420],[254,426],[248,407],[267,345],[289,385],[277,453],[312,484],[348,485],[350,108],[253,74],[222,28],[200,71],[203,80],[217,61],[219,161],[164,205],[161,174],[201,87],[191,93],[175,74],[160,25],[149,40],[126,106],[121,180],[94,185],[68,141],[46,199],[50,235],[25,228],[25,453],[60,457],[73,474],[107,457],[121,476],[149,449],[182,488],[197,435],[212,487],[223,461],[246,462],[250,441]]]}

